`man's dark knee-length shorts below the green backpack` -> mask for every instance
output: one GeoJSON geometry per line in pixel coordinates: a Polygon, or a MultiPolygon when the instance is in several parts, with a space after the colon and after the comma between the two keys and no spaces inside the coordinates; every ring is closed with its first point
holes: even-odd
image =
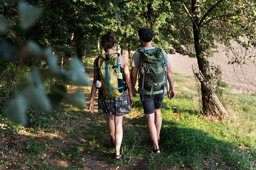
{"type": "Polygon", "coordinates": [[[162,108],[164,93],[155,94],[154,98],[151,99],[149,94],[144,94],[144,100],[142,100],[142,94],[140,94],[140,101],[143,106],[143,110],[145,114],[154,113],[155,109],[162,108]]]}

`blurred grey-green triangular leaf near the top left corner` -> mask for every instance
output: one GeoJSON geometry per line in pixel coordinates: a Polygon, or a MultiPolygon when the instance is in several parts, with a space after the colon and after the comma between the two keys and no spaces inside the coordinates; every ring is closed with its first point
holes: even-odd
{"type": "Polygon", "coordinates": [[[20,3],[19,11],[20,26],[23,29],[29,28],[42,13],[41,8],[29,6],[27,3],[20,3]]]}

